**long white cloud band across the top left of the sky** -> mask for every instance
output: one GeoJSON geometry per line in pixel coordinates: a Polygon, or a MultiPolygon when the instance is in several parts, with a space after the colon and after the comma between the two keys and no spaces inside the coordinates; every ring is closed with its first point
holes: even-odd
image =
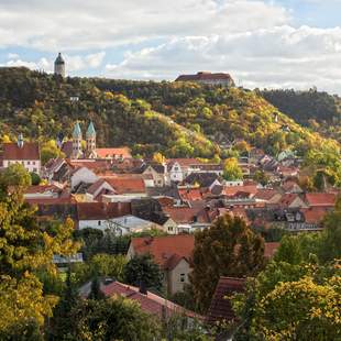
{"type": "Polygon", "coordinates": [[[156,37],[271,28],[287,21],[288,12],[282,7],[252,0],[2,0],[0,47],[102,50],[156,37]]]}

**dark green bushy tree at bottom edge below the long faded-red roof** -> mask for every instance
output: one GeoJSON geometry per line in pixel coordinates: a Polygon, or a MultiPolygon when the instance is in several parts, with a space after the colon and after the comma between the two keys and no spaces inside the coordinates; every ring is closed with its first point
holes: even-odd
{"type": "Polygon", "coordinates": [[[160,323],[130,299],[80,300],[74,309],[75,340],[158,340],[160,323]]]}

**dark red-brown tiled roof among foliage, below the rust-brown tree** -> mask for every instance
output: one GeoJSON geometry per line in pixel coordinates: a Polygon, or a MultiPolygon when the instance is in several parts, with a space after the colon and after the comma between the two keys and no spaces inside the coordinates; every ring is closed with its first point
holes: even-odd
{"type": "Polygon", "coordinates": [[[245,279],[233,277],[220,277],[211,305],[207,314],[207,321],[215,323],[218,321],[230,321],[235,318],[232,305],[227,296],[244,290],[245,279]]]}

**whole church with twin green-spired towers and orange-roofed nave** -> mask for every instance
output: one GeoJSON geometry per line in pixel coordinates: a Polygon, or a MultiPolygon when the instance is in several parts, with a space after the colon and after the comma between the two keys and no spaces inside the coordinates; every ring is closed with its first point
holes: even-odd
{"type": "MultiPolygon", "coordinates": [[[[80,123],[77,121],[73,130],[72,141],[63,143],[62,151],[70,160],[120,160],[131,158],[129,147],[103,147],[98,148],[96,145],[96,130],[94,122],[88,125],[85,135],[85,144],[80,123]]],[[[59,142],[61,143],[61,142],[59,142]]],[[[62,144],[62,143],[61,143],[62,144]]]]}

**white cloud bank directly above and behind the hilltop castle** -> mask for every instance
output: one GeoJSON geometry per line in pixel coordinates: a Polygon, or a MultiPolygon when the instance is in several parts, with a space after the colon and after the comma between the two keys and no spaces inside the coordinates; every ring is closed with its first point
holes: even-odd
{"type": "Polygon", "coordinates": [[[295,87],[341,94],[341,29],[279,26],[169,40],[107,64],[118,78],[174,79],[179,73],[228,72],[246,87],[295,87]]]}

